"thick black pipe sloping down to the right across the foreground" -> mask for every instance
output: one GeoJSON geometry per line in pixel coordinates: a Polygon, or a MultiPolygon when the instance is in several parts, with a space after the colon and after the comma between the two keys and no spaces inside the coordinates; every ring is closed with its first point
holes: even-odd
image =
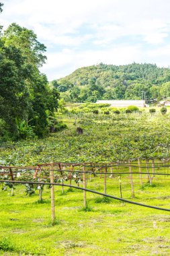
{"type": "Polygon", "coordinates": [[[132,204],[135,204],[135,205],[140,205],[140,206],[152,208],[152,209],[155,209],[155,210],[170,212],[170,209],[167,209],[167,208],[161,208],[161,207],[156,207],[156,206],[152,206],[152,205],[146,205],[146,204],[143,204],[143,203],[137,203],[137,202],[130,201],[130,200],[127,200],[127,199],[123,199],[123,198],[120,198],[120,197],[114,197],[113,195],[108,195],[108,194],[105,194],[105,193],[100,193],[100,192],[97,192],[97,191],[93,191],[91,189],[84,189],[83,187],[76,187],[76,186],[73,186],[73,185],[65,185],[65,184],[59,184],[59,183],[40,183],[40,182],[36,182],[36,181],[35,182],[32,182],[32,181],[0,181],[0,183],[5,183],[5,182],[19,183],[19,184],[37,184],[37,185],[54,185],[54,186],[72,187],[73,189],[80,189],[80,190],[83,190],[83,191],[95,193],[97,195],[103,195],[104,197],[110,197],[112,199],[116,199],[116,200],[119,200],[119,201],[124,201],[126,203],[132,203],[132,204]]]}

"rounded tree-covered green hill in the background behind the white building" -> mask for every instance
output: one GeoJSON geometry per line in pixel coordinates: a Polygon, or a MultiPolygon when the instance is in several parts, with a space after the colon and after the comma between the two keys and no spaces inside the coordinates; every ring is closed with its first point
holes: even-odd
{"type": "Polygon", "coordinates": [[[96,100],[146,99],[170,96],[170,69],[153,64],[93,65],[75,70],[71,75],[51,82],[66,102],[96,100]]]}

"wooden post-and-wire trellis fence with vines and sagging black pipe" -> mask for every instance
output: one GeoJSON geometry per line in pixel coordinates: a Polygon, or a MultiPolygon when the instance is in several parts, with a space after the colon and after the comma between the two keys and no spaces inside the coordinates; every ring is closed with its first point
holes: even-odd
{"type": "MultiPolygon", "coordinates": [[[[144,205],[122,198],[122,177],[127,176],[126,183],[130,185],[131,197],[135,197],[135,183],[140,186],[144,183],[153,184],[156,177],[169,177],[169,159],[163,160],[127,160],[124,162],[102,163],[73,163],[73,162],[54,162],[47,164],[38,164],[37,166],[0,166],[0,182],[10,184],[36,184],[39,189],[39,200],[42,199],[42,187],[50,185],[51,191],[51,213],[52,222],[55,220],[54,204],[54,186],[61,186],[61,192],[64,193],[64,187],[72,187],[83,190],[83,205],[87,207],[87,191],[105,197],[118,199],[128,203],[134,203],[145,207],[151,207],[157,210],[170,211],[169,209],[144,205]],[[134,181],[135,174],[135,181],[134,181]],[[136,179],[136,175],[138,179],[136,179]],[[93,178],[92,178],[93,177],[93,178]],[[87,182],[99,177],[103,183],[103,193],[87,189],[87,182]],[[118,178],[120,183],[120,197],[107,194],[108,179],[118,178]],[[68,184],[65,184],[69,182],[68,184]],[[76,183],[76,186],[72,183],[76,183]],[[83,185],[83,187],[81,187],[83,185]]],[[[159,178],[160,181],[160,178],[159,178]]],[[[13,187],[13,186],[12,186],[13,187]]]]}

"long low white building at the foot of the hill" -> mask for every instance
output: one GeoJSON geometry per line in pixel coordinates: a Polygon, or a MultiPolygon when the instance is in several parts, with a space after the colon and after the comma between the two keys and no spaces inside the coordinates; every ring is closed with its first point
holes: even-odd
{"type": "Polygon", "coordinates": [[[96,103],[107,103],[116,108],[126,108],[127,106],[138,106],[144,108],[145,100],[97,100],[96,103]]]}

